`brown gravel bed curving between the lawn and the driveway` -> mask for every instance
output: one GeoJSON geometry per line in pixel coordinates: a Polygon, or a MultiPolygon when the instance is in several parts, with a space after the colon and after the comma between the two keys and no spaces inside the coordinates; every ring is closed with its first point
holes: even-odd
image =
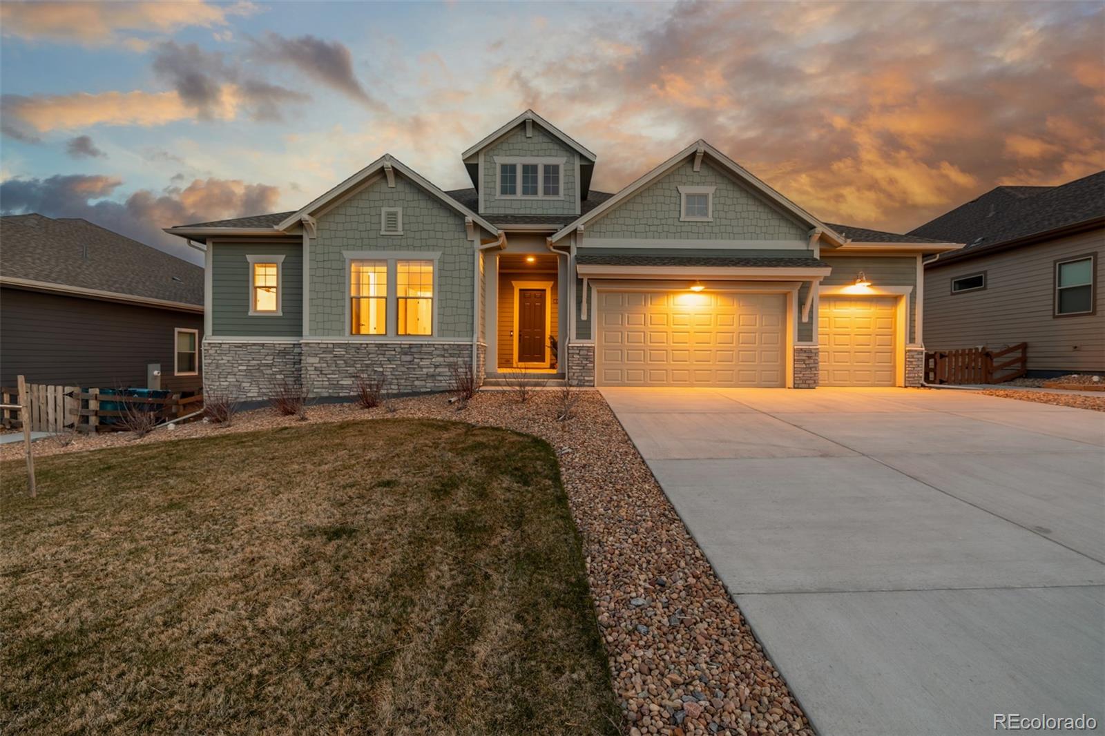
{"type": "MultiPolygon", "coordinates": [[[[583,538],[625,729],[639,734],[812,734],[806,715],[765,656],[736,604],[675,509],[596,391],[581,391],[572,416],[557,421],[559,391],[519,403],[481,392],[464,408],[443,396],[308,409],[309,423],[356,418],[439,418],[503,427],[548,441],[560,460],[572,515],[583,538]]],[[[141,439],[123,434],[35,443],[35,454],[74,452],[166,439],[303,427],[262,409],[229,428],[192,423],[141,439]]],[[[326,431],[320,427],[319,431],[326,431]]],[[[0,448],[0,459],[21,448],[0,448]]]]}

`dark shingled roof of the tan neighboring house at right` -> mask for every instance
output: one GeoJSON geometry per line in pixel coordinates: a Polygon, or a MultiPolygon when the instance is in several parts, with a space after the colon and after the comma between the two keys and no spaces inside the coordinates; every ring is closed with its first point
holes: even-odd
{"type": "Polygon", "coordinates": [[[1057,187],[997,187],[909,234],[966,243],[959,252],[939,259],[946,262],[1103,219],[1105,171],[1098,171],[1057,187]]]}

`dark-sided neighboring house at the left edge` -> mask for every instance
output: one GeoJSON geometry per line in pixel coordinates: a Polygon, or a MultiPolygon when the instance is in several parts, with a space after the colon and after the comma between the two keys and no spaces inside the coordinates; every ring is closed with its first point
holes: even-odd
{"type": "Polygon", "coordinates": [[[203,270],[86,220],[0,218],[0,383],[200,387],[203,270]]]}

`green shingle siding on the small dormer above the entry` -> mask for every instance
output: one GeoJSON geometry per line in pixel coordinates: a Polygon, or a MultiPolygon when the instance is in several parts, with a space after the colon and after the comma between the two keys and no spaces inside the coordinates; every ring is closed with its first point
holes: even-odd
{"type": "MultiPolygon", "coordinates": [[[[483,172],[483,213],[485,214],[575,214],[576,151],[534,124],[534,135],[526,137],[526,126],[518,125],[506,137],[486,148],[483,172]],[[496,156],[564,157],[560,165],[560,193],[564,199],[499,199],[496,156]]],[[[522,191],[522,169],[518,169],[518,191],[522,191]]]]}

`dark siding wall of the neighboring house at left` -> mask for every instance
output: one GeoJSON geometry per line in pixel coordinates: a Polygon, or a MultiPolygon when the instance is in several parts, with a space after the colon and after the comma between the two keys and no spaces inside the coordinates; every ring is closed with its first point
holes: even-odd
{"type": "MultiPolygon", "coordinates": [[[[201,376],[173,376],[175,329],[199,330],[203,315],[19,288],[0,288],[0,383],[146,386],[161,364],[161,388],[192,391],[201,376]]],[[[197,344],[197,347],[199,344],[197,344]]]]}

